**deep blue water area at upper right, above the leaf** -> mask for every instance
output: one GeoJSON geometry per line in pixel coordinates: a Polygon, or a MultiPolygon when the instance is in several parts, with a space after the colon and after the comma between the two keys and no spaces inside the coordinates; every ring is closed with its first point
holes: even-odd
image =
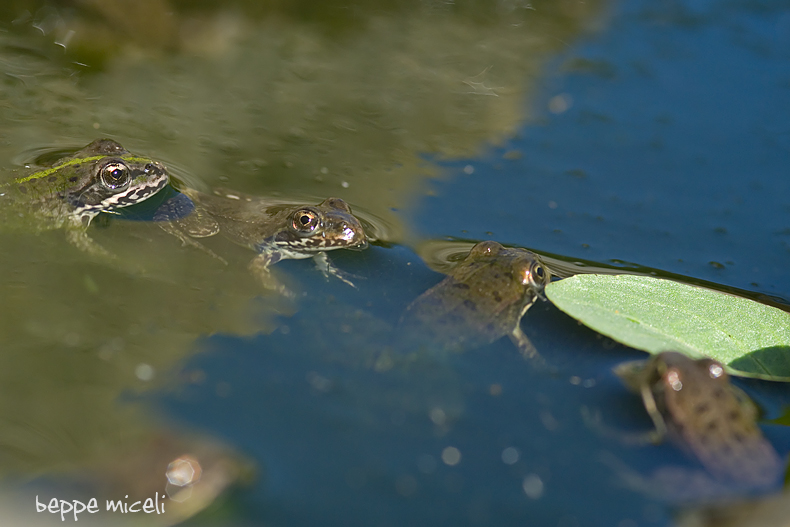
{"type": "Polygon", "coordinates": [[[443,163],[413,225],[787,299],[788,59],[787,2],[621,2],[516,137],[443,163]]]}

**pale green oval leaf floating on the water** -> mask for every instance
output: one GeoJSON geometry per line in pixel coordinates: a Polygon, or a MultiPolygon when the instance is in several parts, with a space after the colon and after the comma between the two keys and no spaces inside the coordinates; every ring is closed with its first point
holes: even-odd
{"type": "Polygon", "coordinates": [[[730,373],[790,381],[790,313],[672,280],[576,275],[546,295],[584,325],[649,353],[712,357],[730,373]]]}

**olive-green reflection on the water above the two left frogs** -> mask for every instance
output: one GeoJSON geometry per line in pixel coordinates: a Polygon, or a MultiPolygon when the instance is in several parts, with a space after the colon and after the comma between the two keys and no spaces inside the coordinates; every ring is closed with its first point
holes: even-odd
{"type": "MultiPolygon", "coordinates": [[[[9,121],[22,121],[8,130],[0,157],[99,130],[209,186],[340,195],[399,224],[392,209],[407,206],[424,188],[420,181],[437,174],[422,156],[473,155],[512,133],[547,53],[597,9],[473,5],[456,12],[415,3],[392,16],[371,5],[353,15],[363,23],[342,38],[234,11],[175,12],[183,42],[173,54],[117,38],[99,46],[102,33],[91,29],[107,25],[101,18],[64,13],[59,24],[74,26],[72,46],[90,41],[106,59],[104,70],[87,76],[95,69],[89,60],[87,68],[41,57],[28,64],[9,53],[18,76],[57,97],[0,88],[15,101],[9,121]]],[[[4,37],[29,49],[54,38],[4,37]]]]}

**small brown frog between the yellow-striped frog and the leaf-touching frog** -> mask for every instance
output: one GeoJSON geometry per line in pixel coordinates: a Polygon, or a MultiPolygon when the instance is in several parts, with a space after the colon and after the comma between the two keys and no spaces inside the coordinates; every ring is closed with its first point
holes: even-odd
{"type": "Polygon", "coordinates": [[[211,194],[190,188],[181,192],[192,200],[194,210],[184,218],[162,223],[162,227],[184,244],[220,260],[195,239],[221,233],[254,250],[257,256],[249,269],[265,288],[292,295],[270,268],[281,260],[302,258],[313,258],[325,276],[354,285],[326,255],[335,249],[362,250],[368,246],[365,229],[342,199],[327,198],[318,205],[307,205],[222,188],[211,194]]]}

